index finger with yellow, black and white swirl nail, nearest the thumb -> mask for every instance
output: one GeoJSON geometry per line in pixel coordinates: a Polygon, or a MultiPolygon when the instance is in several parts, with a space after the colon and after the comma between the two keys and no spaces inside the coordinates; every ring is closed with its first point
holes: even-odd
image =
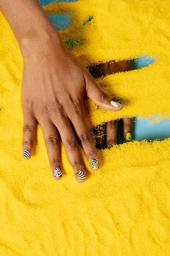
{"type": "Polygon", "coordinates": [[[99,168],[99,162],[97,160],[97,150],[95,143],[92,139],[91,133],[85,123],[84,117],[81,113],[73,115],[70,118],[75,132],[81,142],[84,153],[89,161],[91,168],[97,170],[99,168]]]}

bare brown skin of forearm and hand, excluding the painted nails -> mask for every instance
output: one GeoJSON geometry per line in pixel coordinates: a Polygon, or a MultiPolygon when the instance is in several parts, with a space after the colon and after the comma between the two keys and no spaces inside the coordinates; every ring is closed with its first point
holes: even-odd
{"type": "Polygon", "coordinates": [[[22,110],[23,152],[32,151],[36,123],[41,125],[52,176],[61,166],[58,132],[76,173],[85,173],[76,135],[89,162],[97,150],[84,121],[83,97],[98,106],[119,111],[98,87],[79,59],[64,46],[60,35],[37,0],[0,0],[0,9],[10,24],[23,57],[22,110]]]}

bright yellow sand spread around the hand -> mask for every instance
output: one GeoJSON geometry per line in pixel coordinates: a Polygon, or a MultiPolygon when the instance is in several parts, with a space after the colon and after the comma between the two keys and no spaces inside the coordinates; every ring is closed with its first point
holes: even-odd
{"type": "MultiPolygon", "coordinates": [[[[73,51],[86,66],[157,57],[149,67],[98,81],[111,97],[121,99],[124,109],[103,111],[87,100],[89,127],[137,114],[168,117],[168,5],[162,0],[81,0],[45,7],[48,13],[75,10],[73,26],[61,34],[66,40],[83,33],[87,43],[73,51]],[[92,23],[81,27],[89,15],[92,23]]],[[[63,147],[63,178],[52,178],[40,126],[33,157],[24,160],[23,62],[2,14],[0,20],[0,256],[168,256],[170,139],[102,150],[96,172],[82,152],[87,168],[82,184],[75,181],[63,147]]]]}

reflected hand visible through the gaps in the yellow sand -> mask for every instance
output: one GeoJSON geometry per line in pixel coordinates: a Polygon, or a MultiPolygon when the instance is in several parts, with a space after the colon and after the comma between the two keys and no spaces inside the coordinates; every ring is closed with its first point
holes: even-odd
{"type": "MultiPolygon", "coordinates": [[[[88,67],[90,73],[93,77],[98,78],[100,76],[105,76],[107,74],[113,74],[122,71],[131,70],[131,65],[129,61],[119,61],[114,60],[100,63],[92,67],[88,67]]],[[[132,121],[131,118],[123,118],[123,137],[125,141],[132,140],[132,121]]],[[[103,125],[98,125],[94,131],[96,136],[96,147],[103,148],[104,134],[106,134],[106,146],[109,148],[117,144],[117,129],[118,120],[112,120],[103,125]]]]}

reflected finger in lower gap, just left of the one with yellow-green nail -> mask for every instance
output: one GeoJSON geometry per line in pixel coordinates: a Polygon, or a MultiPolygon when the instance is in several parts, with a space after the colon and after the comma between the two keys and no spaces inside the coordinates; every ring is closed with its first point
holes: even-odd
{"type": "Polygon", "coordinates": [[[106,145],[111,147],[117,144],[118,120],[112,120],[106,123],[106,145]]]}

